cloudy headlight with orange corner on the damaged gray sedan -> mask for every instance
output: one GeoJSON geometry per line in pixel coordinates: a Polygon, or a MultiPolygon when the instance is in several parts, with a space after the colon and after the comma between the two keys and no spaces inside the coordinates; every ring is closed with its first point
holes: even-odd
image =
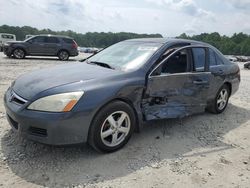
{"type": "Polygon", "coordinates": [[[83,93],[83,91],[78,91],[43,97],[31,103],[28,109],[46,112],[69,112],[83,93]]]}

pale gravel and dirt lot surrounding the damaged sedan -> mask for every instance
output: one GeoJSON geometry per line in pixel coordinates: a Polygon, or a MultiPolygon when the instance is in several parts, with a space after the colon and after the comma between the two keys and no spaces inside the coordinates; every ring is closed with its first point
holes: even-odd
{"type": "Polygon", "coordinates": [[[223,114],[150,122],[122,150],[99,154],[28,141],[7,123],[2,98],[11,81],[57,64],[0,53],[0,187],[250,187],[250,71],[241,70],[223,114]]]}

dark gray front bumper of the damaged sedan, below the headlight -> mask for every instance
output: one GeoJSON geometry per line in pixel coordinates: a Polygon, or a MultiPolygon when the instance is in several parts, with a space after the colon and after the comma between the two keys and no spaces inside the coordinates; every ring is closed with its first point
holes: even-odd
{"type": "Polygon", "coordinates": [[[7,119],[18,134],[49,145],[77,144],[87,141],[91,122],[89,111],[50,113],[27,110],[10,101],[10,89],[4,96],[7,119]]]}

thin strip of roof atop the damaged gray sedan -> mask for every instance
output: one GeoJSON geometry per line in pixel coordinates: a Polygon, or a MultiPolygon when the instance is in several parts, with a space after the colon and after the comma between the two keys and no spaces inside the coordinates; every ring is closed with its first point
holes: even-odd
{"type": "Polygon", "coordinates": [[[210,46],[207,43],[188,40],[188,39],[177,39],[177,38],[137,38],[137,39],[129,39],[126,40],[128,42],[153,42],[153,43],[161,43],[161,44],[178,44],[178,43],[189,43],[191,45],[202,45],[202,46],[210,46]]]}

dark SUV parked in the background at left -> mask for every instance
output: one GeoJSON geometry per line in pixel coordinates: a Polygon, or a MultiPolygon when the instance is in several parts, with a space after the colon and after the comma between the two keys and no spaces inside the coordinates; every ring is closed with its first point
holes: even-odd
{"type": "Polygon", "coordinates": [[[77,43],[70,37],[58,35],[37,35],[24,41],[13,41],[4,44],[4,54],[8,57],[23,59],[25,56],[57,56],[68,60],[77,56],[77,43]]]}

